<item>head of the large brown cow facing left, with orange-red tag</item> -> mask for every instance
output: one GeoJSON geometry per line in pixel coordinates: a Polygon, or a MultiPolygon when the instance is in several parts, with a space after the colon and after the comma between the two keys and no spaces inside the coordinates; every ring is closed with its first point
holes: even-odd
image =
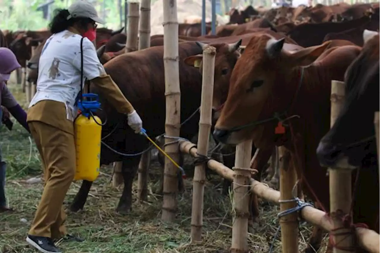
{"type": "Polygon", "coordinates": [[[231,74],[227,100],[215,125],[214,136],[225,144],[253,139],[256,147],[273,145],[276,112],[283,112],[300,82],[305,59],[322,54],[330,42],[296,52],[283,49],[285,39],[254,36],[231,74]],[[255,124],[253,122],[256,122],[255,124]]]}

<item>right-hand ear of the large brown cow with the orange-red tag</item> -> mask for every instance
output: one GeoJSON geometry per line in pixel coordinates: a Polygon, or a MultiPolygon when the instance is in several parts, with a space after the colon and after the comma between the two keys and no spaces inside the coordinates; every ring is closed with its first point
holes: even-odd
{"type": "Polygon", "coordinates": [[[290,64],[301,66],[307,59],[309,59],[310,62],[315,61],[323,52],[325,52],[327,47],[330,46],[330,43],[331,40],[318,46],[306,47],[294,53],[287,53],[290,57],[290,64]]]}

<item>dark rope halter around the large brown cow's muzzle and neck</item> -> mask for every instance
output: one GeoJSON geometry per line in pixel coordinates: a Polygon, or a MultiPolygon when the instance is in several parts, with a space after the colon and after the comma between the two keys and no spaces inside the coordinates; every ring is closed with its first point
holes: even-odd
{"type": "Polygon", "coordinates": [[[271,118],[264,119],[264,120],[256,120],[256,121],[248,123],[246,125],[236,126],[236,127],[231,128],[230,130],[228,130],[228,132],[232,133],[232,132],[240,131],[240,130],[247,128],[249,126],[261,125],[263,123],[271,122],[272,120],[278,120],[279,122],[283,122],[283,121],[288,120],[288,119],[293,118],[293,117],[299,117],[298,115],[292,115],[290,117],[287,117],[287,115],[288,115],[288,111],[290,111],[290,109],[293,108],[293,105],[296,102],[299,90],[301,89],[303,78],[304,78],[304,67],[301,67],[300,74],[299,74],[299,82],[298,82],[298,87],[297,87],[296,93],[294,93],[293,100],[290,102],[288,109],[285,110],[282,114],[275,112],[273,117],[271,117],[271,118]],[[283,117],[285,117],[285,119],[283,117]]]}

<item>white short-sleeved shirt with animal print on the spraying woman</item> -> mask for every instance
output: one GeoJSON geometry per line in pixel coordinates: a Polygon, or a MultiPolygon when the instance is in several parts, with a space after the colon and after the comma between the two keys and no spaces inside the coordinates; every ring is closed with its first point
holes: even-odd
{"type": "MultiPolygon", "coordinates": [[[[74,106],[81,84],[81,35],[64,30],[47,39],[38,64],[37,91],[29,108],[41,100],[66,105],[67,119],[74,120],[74,106]]],[[[105,74],[93,43],[83,39],[83,77],[91,80],[105,74]]],[[[84,80],[83,80],[84,84],[84,80]]]]}

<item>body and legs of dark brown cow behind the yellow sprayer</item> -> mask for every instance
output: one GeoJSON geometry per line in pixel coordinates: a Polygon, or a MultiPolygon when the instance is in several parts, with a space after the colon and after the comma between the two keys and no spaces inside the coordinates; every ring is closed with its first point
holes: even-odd
{"type": "MultiPolygon", "coordinates": [[[[197,55],[202,49],[195,42],[179,44],[179,74],[181,92],[186,96],[181,96],[181,103],[186,104],[181,108],[181,121],[187,119],[198,107],[201,95],[201,75],[193,67],[184,64],[183,59],[190,55],[197,55]]],[[[144,128],[150,136],[162,134],[165,125],[165,78],[163,76],[163,46],[150,47],[142,51],[130,52],[119,55],[105,64],[105,70],[112,79],[119,85],[122,92],[128,98],[136,111],[139,112],[144,128]],[[152,72],[152,70],[154,70],[152,72]],[[158,106],[161,104],[162,106],[158,106]]],[[[96,93],[96,91],[93,91],[96,93]]],[[[107,114],[108,121],[103,126],[103,136],[111,133],[104,142],[113,149],[123,153],[138,153],[146,149],[147,140],[138,134],[134,134],[129,128],[118,122],[124,122],[123,117],[106,101],[102,101],[102,107],[107,114]]],[[[105,115],[100,114],[101,118],[105,115]]],[[[181,127],[181,137],[190,139],[198,131],[199,115],[190,119],[181,127]]],[[[122,157],[110,151],[102,145],[101,164],[109,164],[114,161],[123,162],[123,178],[125,188],[120,198],[117,211],[126,213],[131,208],[131,186],[140,155],[135,157],[122,157]]],[[[79,190],[71,210],[82,209],[86,202],[87,193],[90,189],[90,182],[84,181],[79,190]]]]}

